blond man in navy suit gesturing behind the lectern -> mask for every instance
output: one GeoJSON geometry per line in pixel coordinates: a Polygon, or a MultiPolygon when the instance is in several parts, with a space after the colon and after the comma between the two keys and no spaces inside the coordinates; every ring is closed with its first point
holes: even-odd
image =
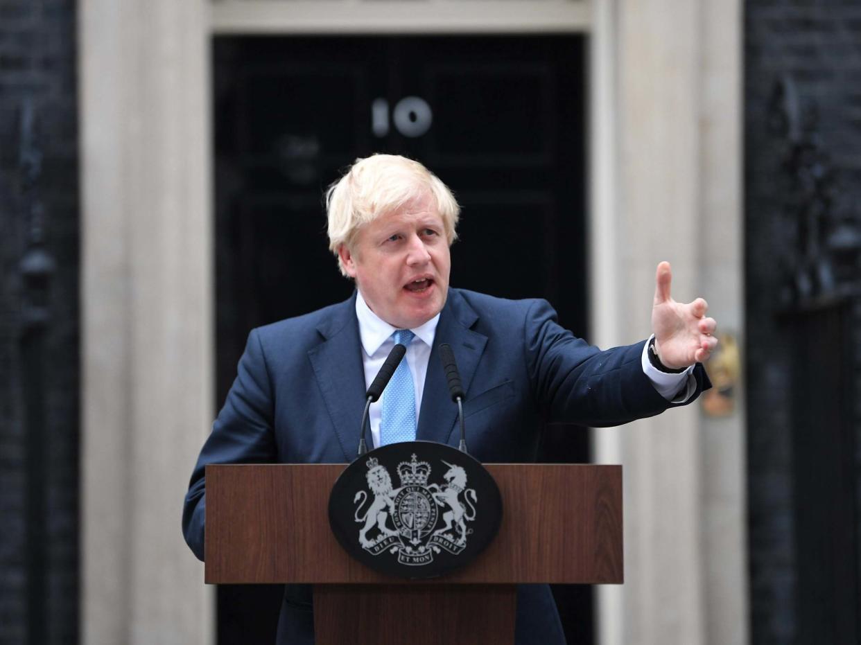
{"type": "MultiPolygon", "coordinates": [[[[404,360],[416,439],[457,439],[437,357],[447,342],[467,393],[470,452],[483,462],[534,461],[548,424],[619,425],[684,405],[709,387],[699,362],[715,348],[715,321],[702,298],[671,298],[666,262],[655,279],[653,336],[601,351],[562,329],[545,301],[449,287],[459,208],[420,163],[389,155],[357,160],[329,189],[326,206],[330,248],[356,292],[251,331],[185,498],[183,532],[201,560],[206,464],[352,460],[364,392],[398,329],[412,331],[404,360]]],[[[370,412],[375,445],[388,443],[391,432],[385,396],[370,412]]],[[[518,589],[516,641],[565,642],[546,585],[518,589]]],[[[313,642],[309,588],[285,590],[278,642],[313,642]]]]}

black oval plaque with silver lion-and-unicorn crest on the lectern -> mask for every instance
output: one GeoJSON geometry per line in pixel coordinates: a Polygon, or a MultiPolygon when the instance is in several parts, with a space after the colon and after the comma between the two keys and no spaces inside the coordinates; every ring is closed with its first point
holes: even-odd
{"type": "Polygon", "coordinates": [[[485,467],[432,441],[362,455],[329,497],[329,523],[344,550],[402,578],[433,578],[472,562],[501,522],[502,497],[485,467]]]}

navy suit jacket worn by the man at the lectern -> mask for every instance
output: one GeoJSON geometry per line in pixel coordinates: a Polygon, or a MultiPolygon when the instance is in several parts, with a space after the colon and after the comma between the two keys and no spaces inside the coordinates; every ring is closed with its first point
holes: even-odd
{"type": "MultiPolygon", "coordinates": [[[[354,294],[341,304],[251,331],[185,497],[183,532],[201,560],[206,464],[355,458],[365,391],[355,301],[354,294]]],[[[642,371],[643,342],[601,351],[562,329],[544,300],[505,300],[452,288],[428,363],[418,439],[449,445],[459,439],[457,409],[437,355],[443,342],[451,345],[461,370],[469,451],[481,462],[534,461],[548,424],[616,426],[672,406],[642,371]]],[[[709,381],[701,365],[694,374],[698,394],[709,381]]],[[[516,641],[565,642],[548,586],[518,589],[516,641]]],[[[286,587],[278,642],[313,642],[307,586],[286,587]]]]}

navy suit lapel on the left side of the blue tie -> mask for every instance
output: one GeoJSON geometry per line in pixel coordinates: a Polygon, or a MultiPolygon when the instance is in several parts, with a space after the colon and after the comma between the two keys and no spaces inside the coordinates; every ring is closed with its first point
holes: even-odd
{"type": "Polygon", "coordinates": [[[325,339],[308,352],[326,410],[348,462],[356,457],[365,404],[362,344],[356,321],[356,294],[318,327],[325,339]]]}

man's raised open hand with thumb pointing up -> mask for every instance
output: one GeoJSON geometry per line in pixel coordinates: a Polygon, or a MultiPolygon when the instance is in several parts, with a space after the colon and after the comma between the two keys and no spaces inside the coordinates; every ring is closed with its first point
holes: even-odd
{"type": "Polygon", "coordinates": [[[703,298],[677,303],[670,296],[672,269],[661,262],[654,276],[652,333],[655,349],[663,365],[671,369],[687,367],[709,358],[717,347],[715,319],[705,316],[709,305],[703,298]]]}

